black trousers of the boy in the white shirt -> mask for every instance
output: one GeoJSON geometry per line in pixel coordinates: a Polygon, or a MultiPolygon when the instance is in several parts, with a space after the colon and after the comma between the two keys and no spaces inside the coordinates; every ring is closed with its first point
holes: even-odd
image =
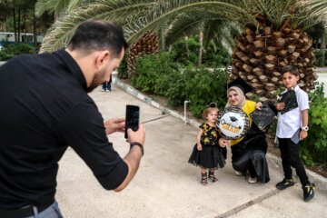
{"type": "Polygon", "coordinates": [[[278,138],[278,142],[281,150],[282,169],[285,179],[292,179],[292,166],[295,168],[302,186],[308,184],[308,176],[299,157],[299,144],[294,144],[290,138],[278,138]]]}

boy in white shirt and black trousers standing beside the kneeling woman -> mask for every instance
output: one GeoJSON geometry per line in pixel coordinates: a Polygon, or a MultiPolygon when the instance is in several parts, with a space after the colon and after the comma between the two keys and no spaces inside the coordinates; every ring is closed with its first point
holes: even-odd
{"type": "MultiPolygon", "coordinates": [[[[279,113],[277,133],[279,146],[282,156],[282,169],[284,172],[284,179],[282,182],[277,183],[276,187],[279,190],[283,190],[287,187],[294,185],[292,180],[292,169],[295,168],[300,181],[302,183],[303,200],[309,202],[314,196],[314,183],[310,183],[307,174],[299,157],[299,143],[292,142],[292,136],[301,128],[300,140],[303,140],[308,136],[308,109],[309,98],[297,84],[300,79],[299,71],[295,66],[288,65],[282,68],[282,83],[285,85],[286,90],[283,93],[295,91],[298,107],[292,109],[285,114],[279,113]]],[[[283,94],[282,93],[282,94],[283,94]]],[[[284,109],[285,103],[277,104],[278,111],[284,109]]]]}

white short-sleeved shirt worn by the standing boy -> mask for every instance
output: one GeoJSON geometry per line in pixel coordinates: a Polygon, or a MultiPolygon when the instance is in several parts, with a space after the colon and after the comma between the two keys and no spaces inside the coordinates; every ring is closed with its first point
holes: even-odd
{"type": "MultiPolygon", "coordinates": [[[[281,114],[278,113],[277,133],[278,138],[292,138],[295,132],[302,128],[302,111],[309,109],[309,97],[299,85],[296,85],[295,89],[296,100],[298,107],[291,111],[281,114]]],[[[288,92],[286,89],[282,94],[288,92]]]]}

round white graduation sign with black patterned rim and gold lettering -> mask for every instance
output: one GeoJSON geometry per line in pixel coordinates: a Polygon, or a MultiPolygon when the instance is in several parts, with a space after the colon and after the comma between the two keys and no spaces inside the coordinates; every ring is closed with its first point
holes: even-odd
{"type": "Polygon", "coordinates": [[[235,106],[226,107],[217,118],[217,126],[226,139],[240,139],[250,129],[250,119],[235,106]]]}

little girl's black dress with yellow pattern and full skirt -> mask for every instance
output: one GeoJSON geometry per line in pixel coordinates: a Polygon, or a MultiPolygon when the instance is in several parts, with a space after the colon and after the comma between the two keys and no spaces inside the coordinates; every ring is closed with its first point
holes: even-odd
{"type": "Polygon", "coordinates": [[[218,144],[218,140],[221,138],[218,128],[210,126],[207,122],[199,127],[203,129],[200,140],[203,150],[197,150],[197,144],[195,144],[188,162],[203,168],[223,168],[227,150],[218,144]]]}

